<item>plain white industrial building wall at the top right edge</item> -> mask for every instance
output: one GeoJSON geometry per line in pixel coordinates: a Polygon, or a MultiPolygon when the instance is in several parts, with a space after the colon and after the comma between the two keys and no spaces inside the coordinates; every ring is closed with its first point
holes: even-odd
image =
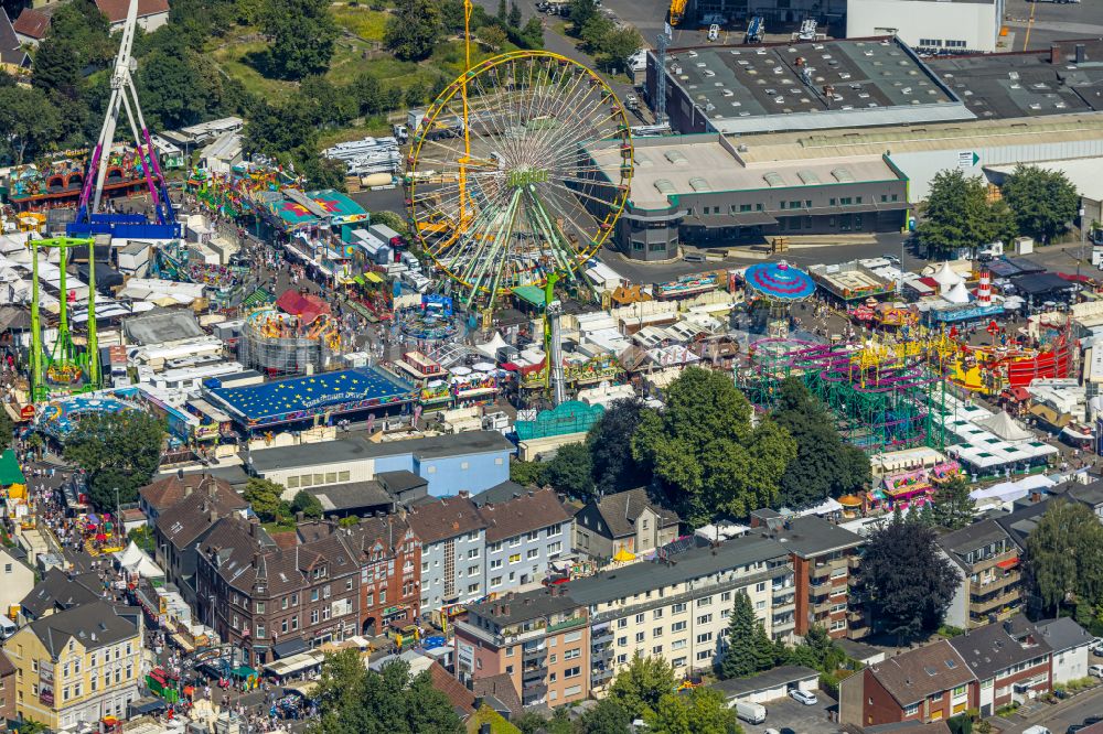
{"type": "Polygon", "coordinates": [[[964,41],[966,50],[996,50],[999,13],[996,2],[938,2],[934,0],[849,0],[846,12],[846,37],[886,35],[896,29],[897,37],[909,46],[920,46],[920,39],[964,41]]]}

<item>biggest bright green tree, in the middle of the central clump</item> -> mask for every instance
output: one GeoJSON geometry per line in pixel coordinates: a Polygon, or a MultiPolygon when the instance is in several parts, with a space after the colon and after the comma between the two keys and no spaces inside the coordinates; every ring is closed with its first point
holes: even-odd
{"type": "Polygon", "coordinates": [[[632,455],[658,481],[683,519],[769,507],[796,456],[796,442],[772,420],[751,425],[751,406],[722,373],[690,367],[666,391],[666,408],[645,413],[632,455]]]}

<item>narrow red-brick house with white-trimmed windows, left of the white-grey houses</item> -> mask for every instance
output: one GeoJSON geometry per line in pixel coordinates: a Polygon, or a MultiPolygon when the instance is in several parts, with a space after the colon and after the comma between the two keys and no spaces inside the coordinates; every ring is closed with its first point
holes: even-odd
{"type": "Polygon", "coordinates": [[[387,625],[415,624],[421,614],[421,539],[405,512],[361,520],[347,542],[360,564],[361,630],[382,635],[387,625]]]}

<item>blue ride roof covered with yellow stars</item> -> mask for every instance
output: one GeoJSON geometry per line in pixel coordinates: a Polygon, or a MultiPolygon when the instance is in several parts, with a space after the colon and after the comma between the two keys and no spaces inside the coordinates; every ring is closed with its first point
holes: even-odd
{"type": "Polygon", "coordinates": [[[363,400],[404,401],[414,386],[376,367],[356,367],[239,388],[216,387],[211,392],[239,415],[265,421],[295,420],[295,413],[307,418],[324,408],[363,400]]]}

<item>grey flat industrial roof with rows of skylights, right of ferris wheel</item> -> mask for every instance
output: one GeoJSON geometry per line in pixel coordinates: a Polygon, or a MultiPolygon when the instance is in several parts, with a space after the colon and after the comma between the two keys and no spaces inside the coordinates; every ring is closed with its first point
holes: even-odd
{"type": "Polygon", "coordinates": [[[909,110],[889,122],[972,117],[910,48],[890,37],[674,48],[666,68],[671,84],[721,132],[878,125],[885,115],[860,122],[840,112],[886,109],[909,110]],[[811,114],[825,117],[805,119],[811,114]],[[747,119],[786,116],[801,119],[771,120],[764,128],[747,119]]]}

